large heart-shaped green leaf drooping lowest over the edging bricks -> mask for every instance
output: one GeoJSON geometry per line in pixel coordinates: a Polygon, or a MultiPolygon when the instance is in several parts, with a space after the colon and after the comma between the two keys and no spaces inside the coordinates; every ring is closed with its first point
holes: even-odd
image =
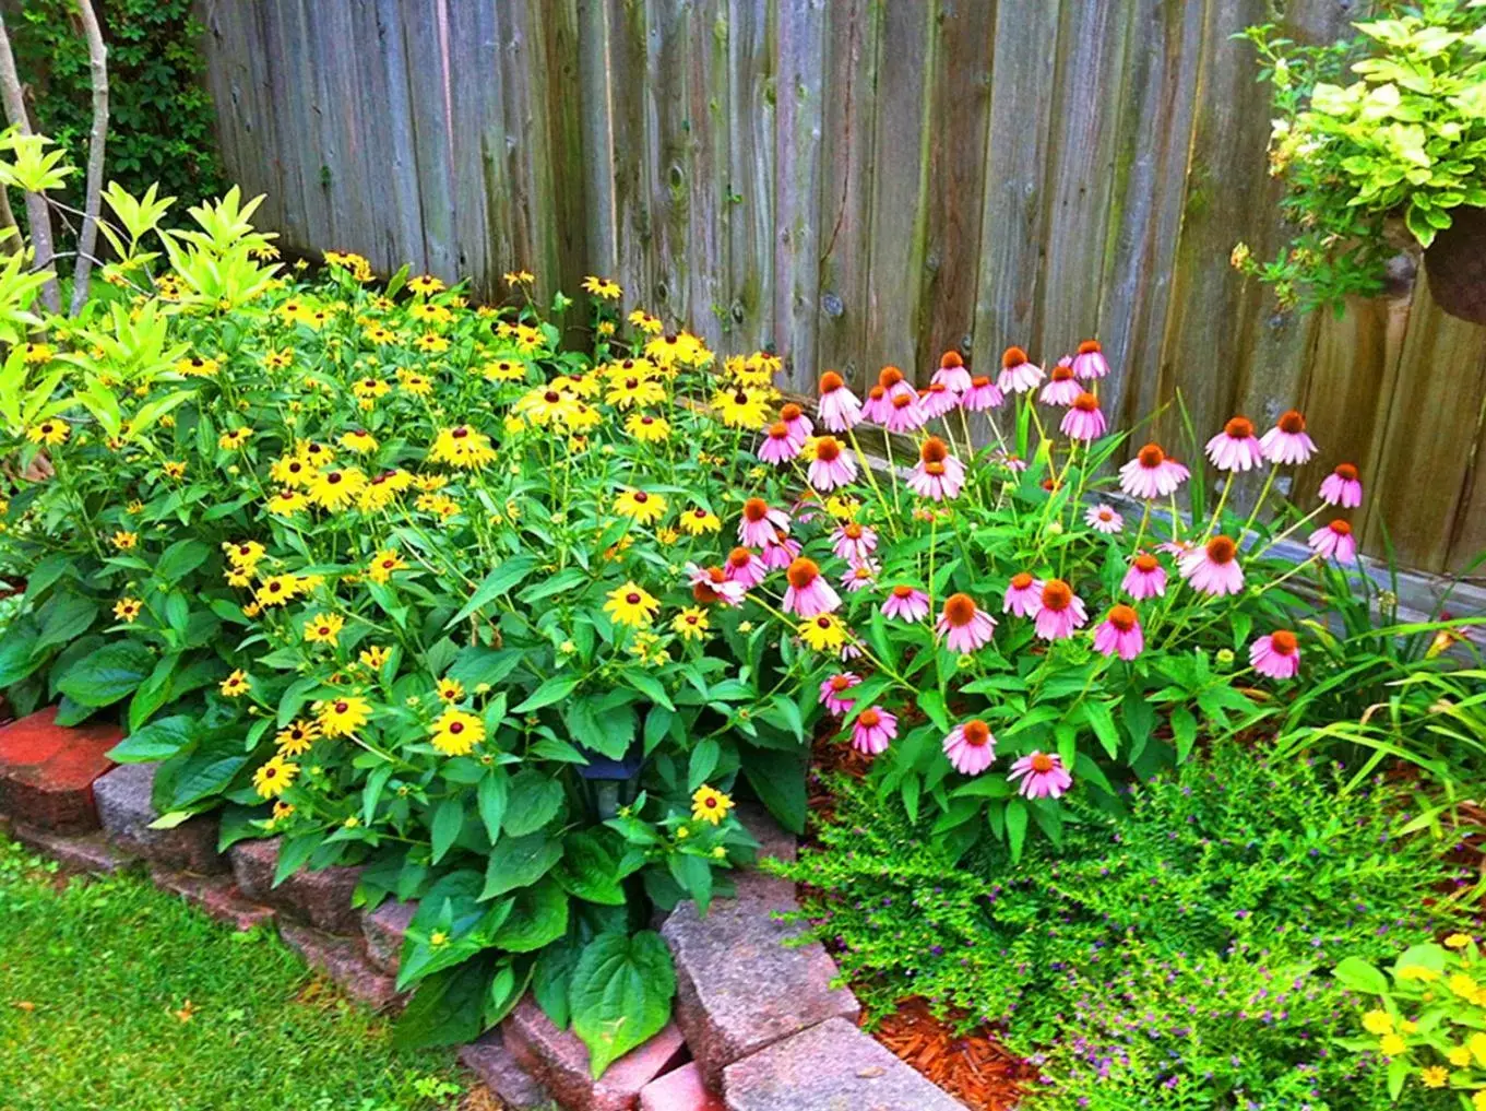
{"type": "Polygon", "coordinates": [[[599,934],[572,973],[572,1029],[588,1047],[594,1077],[670,1020],[676,971],[660,934],[599,934]]]}

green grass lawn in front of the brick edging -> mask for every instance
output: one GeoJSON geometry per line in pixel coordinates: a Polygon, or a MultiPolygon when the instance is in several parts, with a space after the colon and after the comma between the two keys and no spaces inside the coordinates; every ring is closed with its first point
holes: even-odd
{"type": "Polygon", "coordinates": [[[236,934],[140,877],[70,879],[0,837],[0,1111],[432,1111],[452,1053],[276,937],[236,934]]]}

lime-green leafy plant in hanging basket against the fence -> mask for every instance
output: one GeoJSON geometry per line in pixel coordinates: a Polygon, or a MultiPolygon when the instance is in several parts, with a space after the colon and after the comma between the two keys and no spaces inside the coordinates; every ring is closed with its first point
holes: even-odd
{"type": "Polygon", "coordinates": [[[1389,259],[1422,251],[1441,308],[1486,323],[1486,0],[1379,7],[1327,46],[1248,28],[1297,234],[1272,260],[1238,244],[1233,265],[1306,311],[1380,293],[1389,259]]]}

